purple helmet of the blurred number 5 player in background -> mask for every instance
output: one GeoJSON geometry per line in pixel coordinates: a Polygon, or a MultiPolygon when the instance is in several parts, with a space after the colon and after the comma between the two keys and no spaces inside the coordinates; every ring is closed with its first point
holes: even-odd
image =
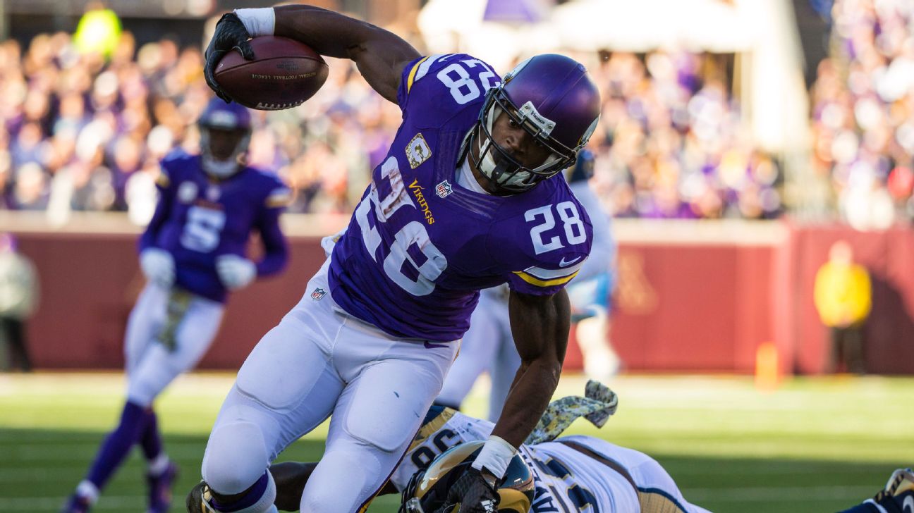
{"type": "Polygon", "coordinates": [[[203,170],[218,178],[236,173],[240,168],[240,156],[248,151],[250,143],[250,111],[238,103],[226,103],[222,99],[210,99],[197,124],[200,127],[200,156],[203,170]],[[235,132],[238,143],[226,159],[217,159],[212,150],[211,131],[235,132]]]}

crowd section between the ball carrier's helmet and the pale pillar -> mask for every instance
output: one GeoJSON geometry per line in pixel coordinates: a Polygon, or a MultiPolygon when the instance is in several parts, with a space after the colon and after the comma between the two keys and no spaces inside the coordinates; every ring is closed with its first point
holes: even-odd
{"type": "Polygon", "coordinates": [[[605,53],[591,66],[603,113],[594,186],[613,215],[771,218],[781,172],[749,140],[715,59],[605,53]]]}

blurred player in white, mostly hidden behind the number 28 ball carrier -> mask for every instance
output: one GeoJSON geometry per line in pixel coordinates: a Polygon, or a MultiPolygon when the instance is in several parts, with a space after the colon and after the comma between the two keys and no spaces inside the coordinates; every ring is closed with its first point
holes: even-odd
{"type": "MultiPolygon", "coordinates": [[[[612,261],[615,244],[610,217],[600,206],[588,181],[593,175],[593,154],[582,150],[578,162],[566,172],[571,192],[584,205],[593,222],[593,247],[590,257],[578,276],[569,283],[572,318],[578,319],[577,335],[584,356],[584,372],[591,378],[606,380],[619,367],[619,359],[611,350],[607,334],[607,300],[610,294],[612,261]],[[587,324],[587,326],[583,326],[587,324]]],[[[520,357],[515,350],[508,319],[507,289],[487,288],[473,310],[470,329],[463,336],[460,355],[444,380],[436,404],[460,409],[473,382],[484,371],[489,372],[492,388],[489,393],[488,419],[495,421],[502,413],[505,398],[511,389],[520,357]]]]}

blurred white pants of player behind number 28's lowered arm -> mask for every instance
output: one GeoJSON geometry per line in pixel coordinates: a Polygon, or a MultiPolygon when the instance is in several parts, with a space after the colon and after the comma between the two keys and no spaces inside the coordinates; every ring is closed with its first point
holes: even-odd
{"type": "Polygon", "coordinates": [[[470,330],[463,335],[460,354],[438,394],[439,403],[459,406],[476,378],[489,372],[492,390],[488,418],[492,422],[502,414],[511,383],[520,367],[520,356],[511,336],[508,303],[504,295],[495,292],[496,289],[484,290],[480,295],[470,318],[470,330]]]}

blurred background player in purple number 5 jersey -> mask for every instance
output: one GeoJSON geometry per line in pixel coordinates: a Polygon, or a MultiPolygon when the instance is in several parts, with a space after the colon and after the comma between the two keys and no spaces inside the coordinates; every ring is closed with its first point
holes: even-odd
{"type": "Polygon", "coordinates": [[[228,290],[285,266],[279,215],[289,191],[274,175],[239,163],[248,148],[250,112],[213,99],[198,124],[201,154],[175,152],[162,162],[159,203],[139,241],[148,281],[124,337],[127,401],[120,423],[69,498],[67,513],[89,511],[137,443],[149,464],[148,511],[168,510],[177,469],[163,450],[153,400],[203,357],[228,290]],[[252,231],[260,233],[264,247],[257,263],[245,257],[252,231]]]}

